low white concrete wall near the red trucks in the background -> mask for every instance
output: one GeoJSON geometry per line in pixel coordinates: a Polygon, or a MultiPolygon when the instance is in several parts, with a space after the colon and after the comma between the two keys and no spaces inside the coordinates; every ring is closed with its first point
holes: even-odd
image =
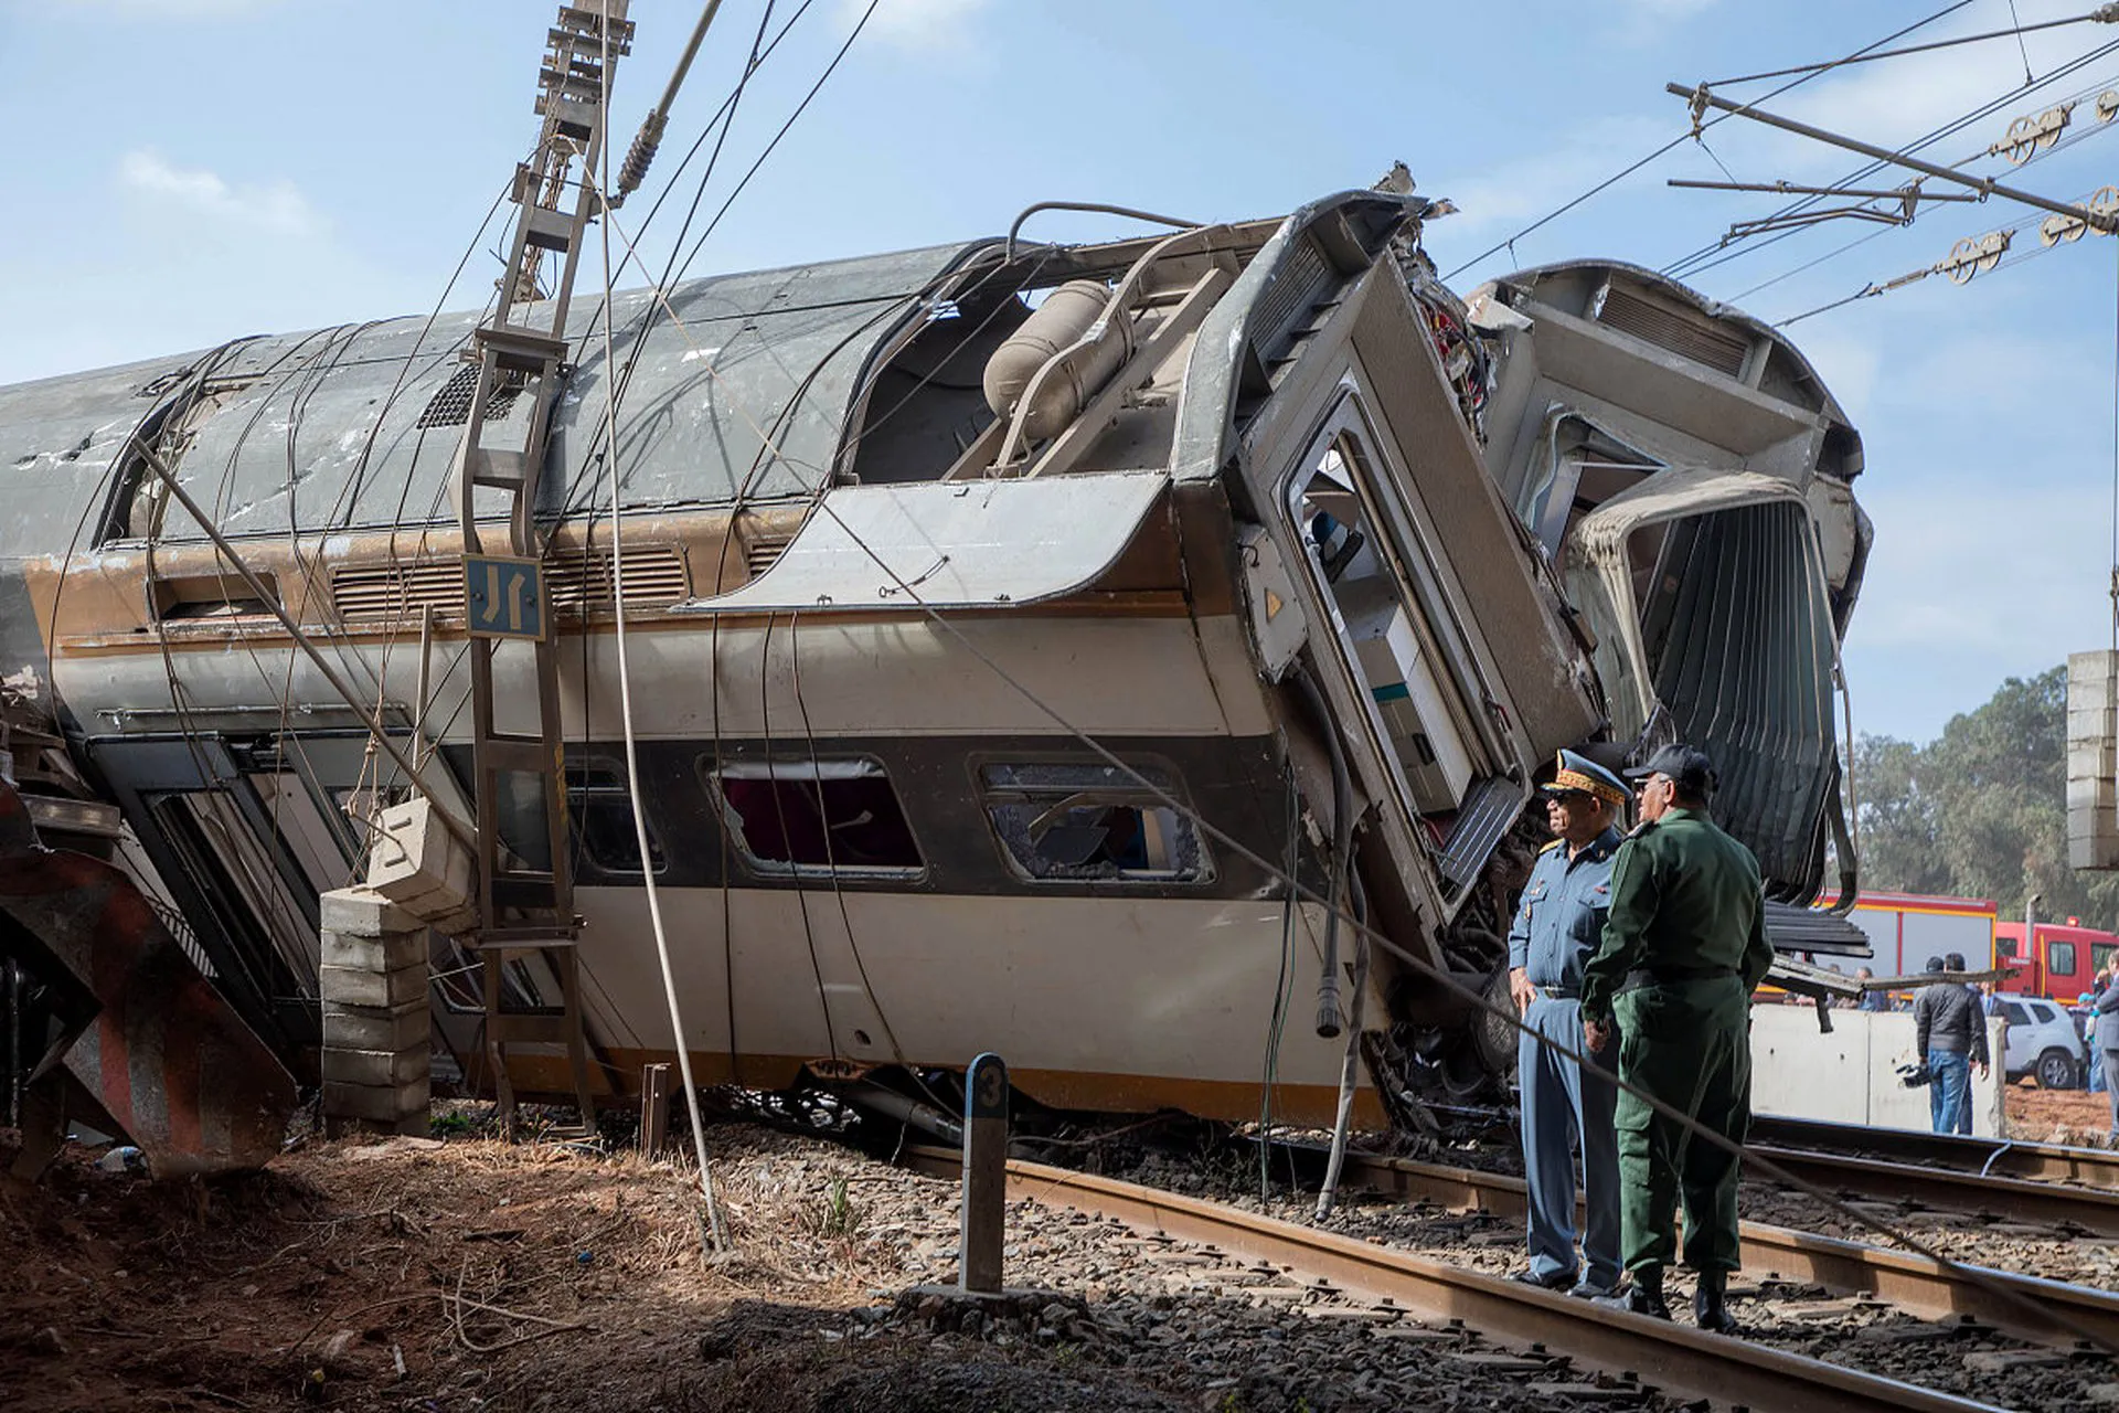
{"type": "MultiPolygon", "coordinates": [[[[1863,1123],[1877,1129],[1926,1129],[1928,1091],[1899,1083],[1897,1066],[1913,1055],[1911,1010],[1833,1010],[1833,1034],[1818,1034],[1812,1006],[1752,1006],[1750,1108],[1757,1114],[1863,1123]]],[[[2000,1019],[1988,1019],[1988,1053],[2000,1059],[2000,1019]]],[[[2002,1135],[2002,1068],[1973,1072],[1973,1133],[2002,1135]]]]}

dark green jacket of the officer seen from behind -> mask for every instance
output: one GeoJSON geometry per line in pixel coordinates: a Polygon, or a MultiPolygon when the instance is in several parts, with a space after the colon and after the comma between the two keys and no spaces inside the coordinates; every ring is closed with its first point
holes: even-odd
{"type": "Polygon", "coordinates": [[[1666,809],[1619,845],[1604,941],[1583,970],[1583,1015],[1610,1015],[1636,968],[1731,968],[1752,991],[1774,964],[1759,860],[1693,809],[1666,809]]]}

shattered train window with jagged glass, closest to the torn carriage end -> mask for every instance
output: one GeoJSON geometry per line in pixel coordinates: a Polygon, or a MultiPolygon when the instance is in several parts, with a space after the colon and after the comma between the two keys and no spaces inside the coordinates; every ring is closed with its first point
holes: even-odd
{"type": "Polygon", "coordinates": [[[1212,877],[1170,771],[1110,765],[985,765],[985,816],[1017,873],[1045,883],[1197,883],[1212,877]],[[1148,782],[1148,786],[1142,784],[1148,782]]]}

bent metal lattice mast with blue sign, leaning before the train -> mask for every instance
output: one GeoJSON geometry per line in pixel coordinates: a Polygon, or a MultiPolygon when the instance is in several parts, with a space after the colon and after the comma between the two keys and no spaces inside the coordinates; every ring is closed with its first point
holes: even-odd
{"type": "MultiPolygon", "coordinates": [[[[536,527],[538,475],[559,381],[568,371],[566,311],[589,220],[602,212],[593,176],[604,159],[604,59],[631,49],[634,25],[627,0],[559,6],[549,32],[549,49],[538,72],[536,112],[545,119],[536,155],[515,169],[515,244],[494,316],[473,333],[470,358],[479,379],[456,453],[458,517],[464,530],[464,604],[470,631],[470,739],[473,792],[477,797],[477,909],[479,930],[466,938],[485,974],[485,1057],[494,1070],[500,1127],[515,1129],[515,1085],[509,1078],[509,1047],[564,1047],[581,1110],[581,1129],[595,1129],[589,1093],[589,1038],[581,1000],[581,919],[574,915],[574,877],[566,818],[566,744],[559,720],[559,650],[542,589],[545,547],[536,527]],[[608,13],[610,30],[604,32],[608,13]],[[578,167],[576,167],[578,163],[578,167]],[[568,186],[574,189],[568,210],[568,186]],[[559,263],[549,292],[538,288],[547,256],[559,263]],[[528,403],[519,436],[511,439],[494,417],[528,403]],[[489,419],[492,417],[492,419],[489,419]],[[502,432],[498,443],[489,432],[502,432]],[[483,494],[481,494],[483,491],[483,494]],[[498,494],[496,494],[498,491],[498,494]],[[506,508],[506,544],[487,551],[492,519],[506,508]],[[481,534],[479,521],[487,519],[481,534]],[[487,614],[498,574],[511,572],[509,608],[487,614]],[[483,583],[475,583],[481,580],[483,583]],[[523,587],[536,602],[517,602],[523,587]],[[532,614],[534,610],[534,614],[532,614]],[[526,627],[534,625],[534,633],[526,627]],[[534,729],[502,731],[496,720],[494,659],[530,652],[536,659],[534,729]],[[521,782],[536,780],[534,788],[521,782]],[[511,788],[515,784],[517,788],[511,788]],[[528,803],[540,797],[549,866],[538,869],[506,849],[500,837],[500,801],[528,803]],[[538,1006],[515,1006],[504,985],[511,964],[536,958],[557,981],[559,998],[538,1006]]],[[[496,536],[498,538],[498,536],[496,536]]],[[[513,722],[519,727],[519,722],[513,722]]],[[[515,841],[532,852],[534,841],[515,841]]]]}

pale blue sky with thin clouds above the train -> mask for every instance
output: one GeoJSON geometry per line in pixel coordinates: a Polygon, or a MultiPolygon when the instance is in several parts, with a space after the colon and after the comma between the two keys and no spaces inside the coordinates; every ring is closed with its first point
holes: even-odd
{"type": "MultiPolygon", "coordinates": [[[[763,6],[723,6],[657,178],[733,85],[763,6]]],[[[636,0],[640,38],[615,97],[625,138],[697,8],[636,0]]],[[[773,23],[797,8],[778,0],[773,23]]],[[[865,8],[812,0],[744,97],[708,210],[865,8]]],[[[882,0],[693,273],[996,233],[1043,199],[1261,216],[1363,186],[1394,159],[1462,208],[1428,237],[1456,269],[1685,133],[1685,104],[1666,83],[1835,57],[1935,8],[882,0]]],[[[2015,2],[2026,23],[2089,8],[2015,2]]],[[[0,121],[17,148],[0,208],[0,383],[430,307],[534,140],[551,11],[549,0],[0,0],[0,121]]],[[[1973,0],[1913,38],[2009,23],[2009,0],[1973,0]]],[[[2032,34],[2028,64],[2045,76],[2113,40],[2119,25],[2032,34]]],[[[2024,68],[2013,40],[1988,42],[1848,68],[1767,108],[1899,144],[2002,97],[2024,68]]],[[[1928,155],[1966,159],[2015,112],[2104,85],[2119,87],[2119,53],[1928,155]]],[[[1755,100],[1767,87],[1729,93],[1755,100]]],[[[2066,201],[2119,182],[2119,123],[2106,136],[2085,102],[2068,131],[2079,140],[2022,169],[1986,159],[1975,172],[2066,201]]],[[[1744,180],[1795,182],[1829,182],[1860,161],[1723,123],[1704,148],[1685,142],[1454,284],[1589,254],[1668,267],[1712,248],[1731,220],[1778,205],[1663,186],[1721,178],[1716,159],[1744,180]]],[[[678,203],[693,186],[693,174],[678,178],[678,203]]],[[[644,214],[636,199],[621,222],[644,214]]],[[[676,214],[642,237],[657,267],[676,214]]],[[[1691,282],[1782,320],[2024,216],[1990,201],[1930,208],[1909,229],[1827,222],[1691,282]],[[1841,250],[1860,237],[1873,239],[1841,250]]],[[[1032,233],[1119,229],[1040,216],[1032,233]]],[[[449,307],[483,301],[496,273],[485,252],[500,239],[498,225],[485,233],[449,307]]],[[[2000,678],[2111,638],[2119,239],[2045,252],[2032,220],[2011,258],[2030,252],[1964,286],[1933,275],[1788,330],[1867,445],[1856,489],[1877,549],[1848,640],[1858,731],[1924,739],[2000,678]]]]}

